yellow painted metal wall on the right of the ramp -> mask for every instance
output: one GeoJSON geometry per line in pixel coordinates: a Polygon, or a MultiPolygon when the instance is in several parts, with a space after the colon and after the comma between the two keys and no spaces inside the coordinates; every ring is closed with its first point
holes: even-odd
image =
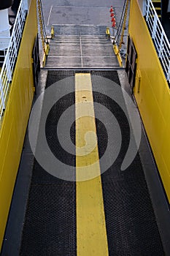
{"type": "Polygon", "coordinates": [[[170,202],[170,92],[137,0],[131,1],[129,34],[138,54],[134,96],[170,202]]]}

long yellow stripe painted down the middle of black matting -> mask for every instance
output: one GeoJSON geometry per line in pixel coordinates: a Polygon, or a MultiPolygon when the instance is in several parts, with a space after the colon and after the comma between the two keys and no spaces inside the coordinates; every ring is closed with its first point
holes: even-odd
{"type": "Polygon", "coordinates": [[[90,74],[76,74],[75,89],[77,255],[107,256],[107,230],[90,74]],[[87,179],[89,173],[96,178],[85,181],[86,169],[87,179]]]}

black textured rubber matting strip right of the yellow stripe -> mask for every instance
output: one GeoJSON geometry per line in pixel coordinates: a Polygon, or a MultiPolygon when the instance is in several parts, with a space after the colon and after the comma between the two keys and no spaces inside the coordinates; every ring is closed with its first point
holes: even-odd
{"type": "MultiPolygon", "coordinates": [[[[117,72],[93,72],[104,78],[120,84],[117,72]]],[[[102,86],[101,83],[93,87],[102,86]]],[[[106,93],[114,93],[113,88],[105,86],[106,93]]],[[[120,166],[125,157],[129,143],[129,124],[123,110],[110,97],[93,92],[94,102],[106,106],[117,118],[122,132],[123,143],[115,163],[101,175],[104,210],[107,225],[107,238],[110,256],[155,256],[164,255],[161,238],[155,221],[150,195],[142,170],[139,154],[128,169],[122,171],[120,166]]],[[[95,108],[97,115],[98,109],[95,108]]],[[[109,122],[107,113],[102,113],[105,121],[109,122]]],[[[100,124],[96,122],[98,134],[99,157],[107,148],[107,132],[99,131],[100,124]]],[[[112,152],[110,152],[112,156],[112,152]]]]}

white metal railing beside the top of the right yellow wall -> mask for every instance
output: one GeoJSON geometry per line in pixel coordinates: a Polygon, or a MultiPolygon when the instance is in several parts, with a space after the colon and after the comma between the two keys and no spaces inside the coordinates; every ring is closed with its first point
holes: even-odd
{"type": "Polygon", "coordinates": [[[161,61],[166,79],[170,83],[170,43],[151,0],[146,0],[145,15],[152,41],[158,53],[158,58],[161,61]]]}

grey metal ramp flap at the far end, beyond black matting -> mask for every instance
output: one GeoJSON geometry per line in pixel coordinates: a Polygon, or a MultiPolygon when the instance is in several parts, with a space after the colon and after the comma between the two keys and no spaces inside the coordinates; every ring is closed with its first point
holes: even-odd
{"type": "Polygon", "coordinates": [[[106,26],[58,25],[50,41],[46,68],[118,68],[106,26]]]}

